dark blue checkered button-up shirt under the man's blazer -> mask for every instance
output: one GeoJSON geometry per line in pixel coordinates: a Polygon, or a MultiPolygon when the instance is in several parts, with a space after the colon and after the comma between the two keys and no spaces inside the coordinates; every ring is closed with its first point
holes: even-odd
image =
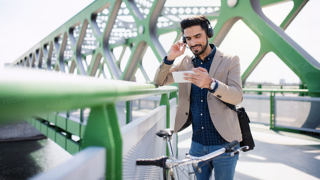
{"type": "MultiPolygon", "coordinates": [[[[198,56],[195,56],[195,60],[198,66],[206,69],[208,72],[210,70],[214,54],[217,50],[215,45],[209,45],[212,48],[212,52],[204,58],[204,61],[202,61],[198,56]]],[[[164,63],[171,65],[173,61],[167,61],[165,57],[164,63]]],[[[200,88],[194,84],[191,84],[190,108],[192,113],[193,129],[192,140],[204,146],[212,146],[227,143],[227,141],[223,139],[223,137],[219,134],[219,132],[212,123],[207,102],[208,91],[213,93],[216,91],[218,87],[218,82],[211,91],[206,88],[200,88]]]]}

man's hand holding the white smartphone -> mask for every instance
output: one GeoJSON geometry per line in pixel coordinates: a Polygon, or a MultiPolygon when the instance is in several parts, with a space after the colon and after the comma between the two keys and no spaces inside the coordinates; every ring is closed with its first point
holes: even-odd
{"type": "Polygon", "coordinates": [[[191,74],[191,73],[183,73],[185,76],[189,76],[191,78],[184,77],[184,79],[191,81],[192,84],[202,87],[202,88],[209,88],[210,89],[210,84],[214,81],[213,78],[210,78],[209,73],[206,69],[197,67],[197,68],[192,68],[192,71],[197,73],[191,74]]]}

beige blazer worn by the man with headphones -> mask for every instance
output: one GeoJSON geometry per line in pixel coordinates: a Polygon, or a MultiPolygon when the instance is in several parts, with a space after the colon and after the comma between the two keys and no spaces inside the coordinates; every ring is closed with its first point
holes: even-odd
{"type": "MultiPolygon", "coordinates": [[[[187,55],[177,65],[167,65],[161,61],[153,83],[158,86],[165,86],[174,83],[172,72],[187,71],[194,68],[191,55],[187,55]]],[[[242,141],[241,129],[237,113],[223,104],[218,98],[230,104],[242,102],[243,91],[240,76],[240,63],[238,56],[222,53],[219,48],[214,55],[209,70],[209,76],[215,78],[219,87],[214,93],[208,91],[207,101],[211,120],[219,134],[228,142],[234,140],[242,141]]],[[[191,83],[179,83],[178,105],[174,132],[186,123],[190,107],[191,83]]]]}

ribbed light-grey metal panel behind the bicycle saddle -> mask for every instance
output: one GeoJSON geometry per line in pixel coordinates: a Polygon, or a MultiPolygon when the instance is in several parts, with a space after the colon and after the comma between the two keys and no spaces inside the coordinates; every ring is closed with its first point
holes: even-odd
{"type": "MultiPolygon", "coordinates": [[[[123,154],[123,179],[163,179],[162,168],[156,166],[136,166],[136,160],[140,158],[159,158],[166,155],[166,143],[156,135],[160,129],[166,128],[166,106],[162,105],[148,114],[135,120],[138,124],[129,123],[124,128],[132,128],[133,131],[124,130],[123,154]],[[154,122],[156,122],[154,124],[154,122]],[[154,124],[152,126],[152,124],[154,124]],[[149,126],[150,125],[150,126],[149,126]],[[149,126],[149,127],[148,127],[149,126]],[[146,133],[143,133],[145,132],[146,133]],[[129,133],[132,135],[129,137],[129,133]],[[132,134],[136,132],[136,134],[132,134]],[[140,139],[139,136],[144,134],[140,139]],[[139,140],[137,140],[137,138],[139,140]],[[131,146],[125,143],[137,142],[131,146]],[[128,148],[130,147],[130,150],[128,148]]],[[[135,123],[133,121],[132,123],[135,123]]]]}

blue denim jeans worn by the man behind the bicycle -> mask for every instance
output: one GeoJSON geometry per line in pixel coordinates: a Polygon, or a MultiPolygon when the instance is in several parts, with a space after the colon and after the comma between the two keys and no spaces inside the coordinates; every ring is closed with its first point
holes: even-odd
{"type": "MultiPolygon", "coordinates": [[[[225,144],[215,145],[215,146],[204,146],[200,143],[196,143],[194,141],[191,142],[191,148],[189,150],[189,154],[191,156],[204,156],[206,154],[209,154],[213,151],[217,151],[218,149],[223,148],[225,144]]],[[[239,145],[236,147],[236,149],[239,149],[239,145]]],[[[220,154],[219,156],[226,156],[228,155],[226,152],[223,154],[220,154]]],[[[218,156],[218,157],[219,157],[218,156]]],[[[209,161],[208,164],[203,165],[201,167],[202,172],[197,172],[196,177],[197,180],[210,180],[212,169],[214,170],[214,179],[215,180],[233,180],[233,176],[235,175],[235,169],[237,160],[239,159],[239,154],[232,156],[232,157],[225,157],[225,158],[219,158],[212,161],[209,161]],[[210,170],[210,169],[211,170],[210,170]]],[[[199,167],[204,163],[204,161],[199,162],[199,167]]],[[[194,171],[196,172],[196,169],[194,168],[194,171]]]]}

